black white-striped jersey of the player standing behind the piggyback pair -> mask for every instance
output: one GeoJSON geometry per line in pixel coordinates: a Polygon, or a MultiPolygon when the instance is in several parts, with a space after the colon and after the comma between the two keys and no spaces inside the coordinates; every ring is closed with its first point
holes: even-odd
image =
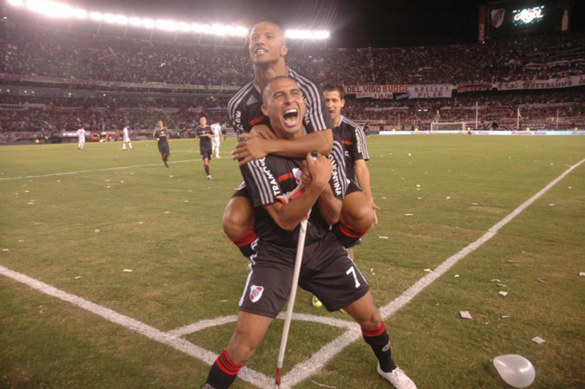
{"type": "Polygon", "coordinates": [[[347,178],[354,180],[356,176],[355,161],[370,159],[366,137],[357,123],[350,121],[343,115],[339,120],[339,126],[333,129],[333,135],[341,138],[347,178]]]}

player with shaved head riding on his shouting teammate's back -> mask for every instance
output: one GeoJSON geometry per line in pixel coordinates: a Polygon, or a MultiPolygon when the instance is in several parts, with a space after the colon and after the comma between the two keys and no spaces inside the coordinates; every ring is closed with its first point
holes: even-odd
{"type": "MultiPolygon", "coordinates": [[[[331,152],[342,154],[340,142],[333,142],[333,122],[325,108],[321,87],[285,64],[288,47],[283,29],[273,22],[257,23],[250,33],[248,50],[254,78],[240,88],[228,104],[228,114],[236,134],[246,139],[239,142],[233,152],[233,158],[239,160],[240,166],[268,154],[304,157],[311,150],[324,155],[331,152]],[[301,118],[306,136],[278,139],[268,127],[270,122],[260,108],[261,89],[278,75],[288,75],[299,85],[306,106],[301,118]]],[[[340,163],[343,163],[342,159],[340,163]]],[[[340,184],[347,185],[346,182],[340,184]]],[[[374,214],[359,190],[343,199],[342,214],[343,228],[338,226],[335,233],[343,245],[351,247],[373,225],[374,214]]],[[[253,221],[249,195],[246,188],[240,186],[223,213],[223,230],[246,257],[252,255],[250,245],[256,239],[253,221]]]]}

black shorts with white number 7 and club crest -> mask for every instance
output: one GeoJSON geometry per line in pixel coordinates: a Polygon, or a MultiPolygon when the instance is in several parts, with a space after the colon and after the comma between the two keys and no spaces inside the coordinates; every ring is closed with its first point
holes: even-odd
{"type": "MultiPolygon", "coordinates": [[[[240,310],[276,318],[291,290],[296,252],[259,241],[256,254],[250,257],[240,310]]],[[[316,295],[329,312],[347,307],[369,291],[366,279],[333,233],[305,246],[298,285],[316,295]]]]}

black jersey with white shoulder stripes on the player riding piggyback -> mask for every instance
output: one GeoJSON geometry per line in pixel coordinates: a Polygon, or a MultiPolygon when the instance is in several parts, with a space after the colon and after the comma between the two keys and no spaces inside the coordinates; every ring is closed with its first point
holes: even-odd
{"type": "MultiPolygon", "coordinates": [[[[302,99],[305,102],[305,116],[303,125],[307,133],[333,128],[331,115],[325,107],[323,89],[321,85],[309,80],[287,67],[288,77],[295,80],[301,89],[302,99]]],[[[247,82],[228,103],[228,114],[236,134],[249,132],[254,125],[270,125],[270,119],[260,109],[262,95],[260,85],[253,78],[247,82]]]]}

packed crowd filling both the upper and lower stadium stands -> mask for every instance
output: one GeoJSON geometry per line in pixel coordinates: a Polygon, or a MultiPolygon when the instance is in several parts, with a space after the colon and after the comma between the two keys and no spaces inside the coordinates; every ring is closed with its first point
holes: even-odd
{"type": "MultiPolygon", "coordinates": [[[[39,75],[67,80],[163,82],[190,85],[242,85],[252,68],[242,46],[126,39],[84,35],[15,23],[0,23],[0,73],[39,75]]],[[[345,85],[493,83],[548,80],[585,72],[585,33],[522,37],[485,44],[429,47],[324,49],[292,45],[289,66],[316,81],[345,85]],[[464,58],[462,61],[460,58],[464,58]]],[[[2,85],[34,85],[0,80],[2,85]]],[[[64,82],[53,88],[65,88],[64,82]]],[[[69,85],[71,87],[71,85],[69,85]]],[[[78,86],[92,89],[92,87],[78,86]]],[[[95,90],[95,87],[93,88],[95,90]]],[[[69,89],[73,90],[73,89],[69,89]]],[[[66,92],[32,96],[0,93],[0,131],[88,131],[152,129],[158,119],[176,133],[197,126],[198,117],[227,122],[228,97],[177,97],[155,93],[129,95],[66,92]],[[13,105],[37,104],[34,108],[13,105]],[[39,106],[42,105],[42,106],[39,106]]],[[[15,92],[15,91],[12,91],[15,92]]],[[[233,92],[232,92],[233,93],[233,92]]],[[[228,94],[224,94],[227,96],[228,94]]],[[[583,87],[553,91],[473,92],[441,99],[355,99],[348,96],[344,114],[358,121],[400,121],[410,125],[475,120],[490,123],[516,118],[548,120],[557,115],[585,118],[583,87]],[[541,104],[541,106],[530,106],[541,104]],[[542,104],[546,104],[542,106],[542,104]]],[[[579,122],[579,121],[577,121],[579,122]]]]}

